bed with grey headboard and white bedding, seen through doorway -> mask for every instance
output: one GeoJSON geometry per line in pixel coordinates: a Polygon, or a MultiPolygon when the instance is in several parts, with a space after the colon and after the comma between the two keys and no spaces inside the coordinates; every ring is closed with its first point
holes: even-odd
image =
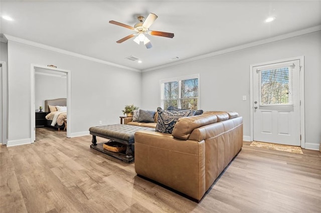
{"type": "Polygon", "coordinates": [[[45,100],[46,126],[58,128],[58,131],[65,128],[64,120],[67,119],[67,98],[45,100]]]}

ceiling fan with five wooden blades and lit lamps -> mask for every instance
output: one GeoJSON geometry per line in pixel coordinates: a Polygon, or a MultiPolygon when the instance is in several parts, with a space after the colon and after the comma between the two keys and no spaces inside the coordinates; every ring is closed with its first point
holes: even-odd
{"type": "Polygon", "coordinates": [[[114,20],[110,20],[109,23],[123,26],[123,27],[129,28],[129,29],[132,29],[134,31],[133,34],[127,35],[126,37],[123,37],[123,38],[117,40],[116,41],[117,43],[121,43],[121,42],[128,40],[129,38],[132,38],[137,35],[134,38],[134,41],[138,44],[140,43],[140,41],[144,42],[146,48],[149,49],[152,47],[152,45],[150,43],[150,40],[146,37],[145,34],[170,37],[170,38],[174,37],[174,33],[171,33],[171,32],[149,30],[150,25],[156,20],[157,17],[158,16],[155,15],[154,13],[149,13],[146,19],[143,16],[138,16],[137,18],[138,18],[139,22],[136,23],[133,27],[129,26],[127,24],[124,24],[124,23],[114,21],[114,20]]]}

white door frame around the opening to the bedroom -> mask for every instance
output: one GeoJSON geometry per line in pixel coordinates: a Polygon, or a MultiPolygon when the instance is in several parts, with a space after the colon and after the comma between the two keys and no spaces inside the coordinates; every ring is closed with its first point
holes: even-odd
{"type": "Polygon", "coordinates": [[[44,69],[50,69],[54,71],[60,71],[60,72],[65,72],[67,75],[67,120],[68,120],[68,128],[67,128],[67,137],[71,137],[71,71],[67,69],[61,69],[61,68],[54,68],[54,67],[49,67],[45,65],[38,65],[38,64],[31,64],[31,142],[35,142],[36,139],[36,121],[35,121],[35,116],[36,116],[36,106],[35,106],[35,69],[36,68],[44,68],[44,69]]]}

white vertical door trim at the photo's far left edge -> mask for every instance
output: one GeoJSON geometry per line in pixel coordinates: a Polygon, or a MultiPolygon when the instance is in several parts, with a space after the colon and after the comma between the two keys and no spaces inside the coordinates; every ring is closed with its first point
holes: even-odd
{"type": "Polygon", "coordinates": [[[7,65],[5,61],[0,61],[2,64],[2,144],[8,142],[8,78],[7,78],[7,65]]]}

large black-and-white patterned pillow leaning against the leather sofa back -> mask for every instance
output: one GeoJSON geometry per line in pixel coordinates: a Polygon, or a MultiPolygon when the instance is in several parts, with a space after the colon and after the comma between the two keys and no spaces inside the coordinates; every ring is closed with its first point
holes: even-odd
{"type": "Polygon", "coordinates": [[[158,119],[156,131],[172,134],[176,121],[180,117],[193,116],[195,110],[163,110],[161,107],[157,108],[158,119]]]}

